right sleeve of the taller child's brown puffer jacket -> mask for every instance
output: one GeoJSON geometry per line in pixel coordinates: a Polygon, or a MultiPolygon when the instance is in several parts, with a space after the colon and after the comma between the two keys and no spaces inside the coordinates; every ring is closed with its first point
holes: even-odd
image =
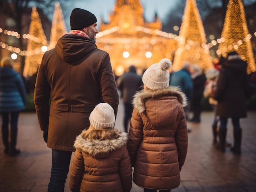
{"type": "Polygon", "coordinates": [[[175,143],[177,146],[179,166],[181,168],[184,165],[188,150],[188,130],[183,108],[180,108],[180,119],[175,133],[175,143]]]}

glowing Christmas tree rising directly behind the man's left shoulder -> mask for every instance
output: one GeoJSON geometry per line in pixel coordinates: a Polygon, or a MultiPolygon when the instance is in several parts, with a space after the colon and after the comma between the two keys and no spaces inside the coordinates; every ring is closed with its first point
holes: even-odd
{"type": "Polygon", "coordinates": [[[65,33],[67,33],[67,29],[62,14],[61,5],[58,2],[56,2],[52,18],[52,29],[49,49],[53,49],[57,44],[58,39],[61,38],[65,33]]]}

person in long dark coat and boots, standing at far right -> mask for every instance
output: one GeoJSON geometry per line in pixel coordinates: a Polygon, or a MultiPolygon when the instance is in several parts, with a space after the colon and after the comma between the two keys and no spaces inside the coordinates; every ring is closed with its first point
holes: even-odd
{"type": "Polygon", "coordinates": [[[226,60],[220,62],[220,76],[213,98],[218,101],[216,115],[220,117],[220,142],[216,148],[225,152],[227,120],[232,119],[234,146],[231,152],[241,153],[242,128],[240,118],[247,117],[245,100],[249,96],[249,79],[246,73],[247,64],[236,52],[228,53],[226,60]]]}

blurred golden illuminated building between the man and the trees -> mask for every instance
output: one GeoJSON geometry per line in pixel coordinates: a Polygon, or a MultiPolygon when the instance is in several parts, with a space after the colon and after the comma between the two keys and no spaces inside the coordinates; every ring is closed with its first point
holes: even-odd
{"type": "Polygon", "coordinates": [[[113,71],[121,75],[130,65],[141,72],[163,58],[172,60],[177,49],[172,33],[161,31],[162,22],[144,20],[140,0],[117,0],[109,23],[101,22],[97,46],[110,55],[113,71]]]}

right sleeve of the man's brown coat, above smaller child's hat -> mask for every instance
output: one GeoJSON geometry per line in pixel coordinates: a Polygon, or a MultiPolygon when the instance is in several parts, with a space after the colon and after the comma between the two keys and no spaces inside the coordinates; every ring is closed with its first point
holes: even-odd
{"type": "Polygon", "coordinates": [[[101,73],[99,76],[99,85],[101,86],[101,93],[103,102],[110,104],[115,111],[115,117],[117,117],[117,108],[119,105],[119,95],[117,92],[117,84],[112,71],[110,57],[108,53],[105,53],[102,64],[101,73]]]}

